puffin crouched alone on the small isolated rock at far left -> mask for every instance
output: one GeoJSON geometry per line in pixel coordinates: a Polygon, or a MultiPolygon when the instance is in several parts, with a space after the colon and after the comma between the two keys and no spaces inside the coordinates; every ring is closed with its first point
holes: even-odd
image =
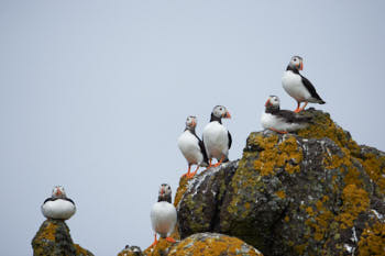
{"type": "Polygon", "coordinates": [[[55,186],[52,197],[45,199],[42,204],[42,213],[47,219],[68,220],[76,212],[75,203],[67,198],[63,186],[55,186]]]}

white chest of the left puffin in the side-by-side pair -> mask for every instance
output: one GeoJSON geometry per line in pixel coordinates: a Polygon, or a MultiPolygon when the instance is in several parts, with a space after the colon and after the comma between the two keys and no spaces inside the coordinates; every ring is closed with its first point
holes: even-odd
{"type": "Polygon", "coordinates": [[[178,147],[189,164],[201,164],[204,155],[200,152],[198,138],[188,130],[178,137],[178,147]]]}

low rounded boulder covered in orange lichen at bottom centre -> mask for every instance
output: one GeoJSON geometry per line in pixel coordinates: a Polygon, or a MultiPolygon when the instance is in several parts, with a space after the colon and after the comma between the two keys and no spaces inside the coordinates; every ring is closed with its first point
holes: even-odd
{"type": "Polygon", "coordinates": [[[199,233],[173,246],[168,256],[262,256],[254,247],[243,241],[222,234],[199,233]]]}

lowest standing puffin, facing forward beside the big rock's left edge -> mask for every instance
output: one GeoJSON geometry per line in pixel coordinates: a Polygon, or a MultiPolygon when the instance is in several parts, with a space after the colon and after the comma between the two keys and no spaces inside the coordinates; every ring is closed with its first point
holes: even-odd
{"type": "Polygon", "coordinates": [[[155,232],[155,241],[150,246],[157,244],[156,234],[160,234],[162,238],[166,238],[170,243],[176,243],[173,237],[169,237],[174,231],[177,213],[174,204],[172,204],[172,188],[168,183],[162,183],[157,202],[154,203],[151,209],[151,224],[155,232]]]}

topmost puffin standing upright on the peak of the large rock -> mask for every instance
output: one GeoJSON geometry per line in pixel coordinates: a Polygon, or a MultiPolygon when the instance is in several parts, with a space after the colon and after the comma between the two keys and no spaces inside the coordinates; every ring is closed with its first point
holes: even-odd
{"type": "Polygon", "coordinates": [[[299,74],[299,70],[304,69],[302,58],[299,56],[293,56],[287,65],[286,71],[282,77],[282,85],[285,91],[297,101],[297,109],[294,112],[299,113],[302,111],[308,102],[324,104],[326,102],[317,93],[316,88],[311,82],[299,74]],[[305,102],[300,108],[300,103],[305,102]]]}

